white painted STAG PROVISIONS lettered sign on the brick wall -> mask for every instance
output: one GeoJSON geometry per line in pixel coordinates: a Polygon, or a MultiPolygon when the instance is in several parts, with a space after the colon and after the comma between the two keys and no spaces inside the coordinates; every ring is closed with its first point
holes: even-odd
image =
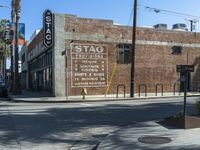
{"type": "Polygon", "coordinates": [[[72,87],[102,87],[108,84],[107,46],[71,44],[72,87]]]}

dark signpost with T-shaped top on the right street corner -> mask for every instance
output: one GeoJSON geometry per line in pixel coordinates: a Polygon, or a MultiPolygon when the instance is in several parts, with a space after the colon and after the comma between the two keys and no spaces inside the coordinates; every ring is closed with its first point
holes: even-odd
{"type": "Polygon", "coordinates": [[[186,116],[186,98],[187,98],[187,84],[188,84],[188,73],[194,72],[194,65],[177,65],[176,71],[183,73],[184,76],[181,81],[184,81],[184,106],[183,106],[183,115],[186,116]]]}

